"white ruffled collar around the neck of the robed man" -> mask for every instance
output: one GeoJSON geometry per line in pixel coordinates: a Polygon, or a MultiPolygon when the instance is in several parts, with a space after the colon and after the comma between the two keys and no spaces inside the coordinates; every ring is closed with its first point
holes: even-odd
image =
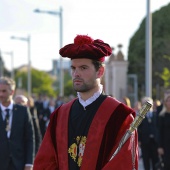
{"type": "Polygon", "coordinates": [[[87,100],[83,100],[80,96],[80,93],[77,92],[77,96],[78,96],[78,99],[79,99],[79,102],[80,104],[83,106],[83,107],[86,107],[88,106],[89,104],[93,103],[102,93],[103,91],[103,85],[99,85],[99,90],[93,94],[93,96],[91,96],[90,98],[88,98],[87,100]]]}

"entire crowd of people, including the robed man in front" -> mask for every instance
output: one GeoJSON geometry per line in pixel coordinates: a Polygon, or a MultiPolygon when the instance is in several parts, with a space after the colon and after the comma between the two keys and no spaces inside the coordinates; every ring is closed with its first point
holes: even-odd
{"type": "Polygon", "coordinates": [[[16,95],[15,81],[0,77],[0,169],[137,170],[139,144],[145,170],[156,170],[159,157],[169,170],[170,92],[162,103],[143,97],[134,107],[128,97],[104,94],[103,62],[112,49],[100,39],[77,35],[59,53],[71,59],[74,99],[16,95]],[[153,107],[120,149],[146,101],[153,107]]]}

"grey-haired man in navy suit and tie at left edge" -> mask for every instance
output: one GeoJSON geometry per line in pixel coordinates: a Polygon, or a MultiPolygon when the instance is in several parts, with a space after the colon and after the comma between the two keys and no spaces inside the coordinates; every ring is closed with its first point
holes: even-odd
{"type": "Polygon", "coordinates": [[[27,107],[14,104],[15,81],[0,77],[0,169],[32,170],[34,128],[27,107]]]}

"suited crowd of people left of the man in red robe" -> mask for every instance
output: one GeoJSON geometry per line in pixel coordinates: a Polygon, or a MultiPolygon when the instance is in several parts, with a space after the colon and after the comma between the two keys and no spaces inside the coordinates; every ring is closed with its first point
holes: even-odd
{"type": "Polygon", "coordinates": [[[15,88],[14,80],[0,77],[0,169],[31,170],[50,114],[66,101],[15,94],[15,88]]]}

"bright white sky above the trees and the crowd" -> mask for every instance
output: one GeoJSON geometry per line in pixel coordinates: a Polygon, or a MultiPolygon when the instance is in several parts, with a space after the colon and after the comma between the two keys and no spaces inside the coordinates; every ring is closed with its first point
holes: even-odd
{"type": "MultiPolygon", "coordinates": [[[[28,63],[27,41],[10,37],[31,36],[31,63],[34,68],[51,70],[59,57],[59,16],[40,14],[34,9],[63,9],[63,44],[72,43],[77,34],[102,39],[115,48],[122,44],[127,58],[130,38],[146,16],[147,0],[0,0],[0,50],[7,69],[28,63]]],[[[151,11],[168,5],[170,0],[150,0],[151,11]]]]}

